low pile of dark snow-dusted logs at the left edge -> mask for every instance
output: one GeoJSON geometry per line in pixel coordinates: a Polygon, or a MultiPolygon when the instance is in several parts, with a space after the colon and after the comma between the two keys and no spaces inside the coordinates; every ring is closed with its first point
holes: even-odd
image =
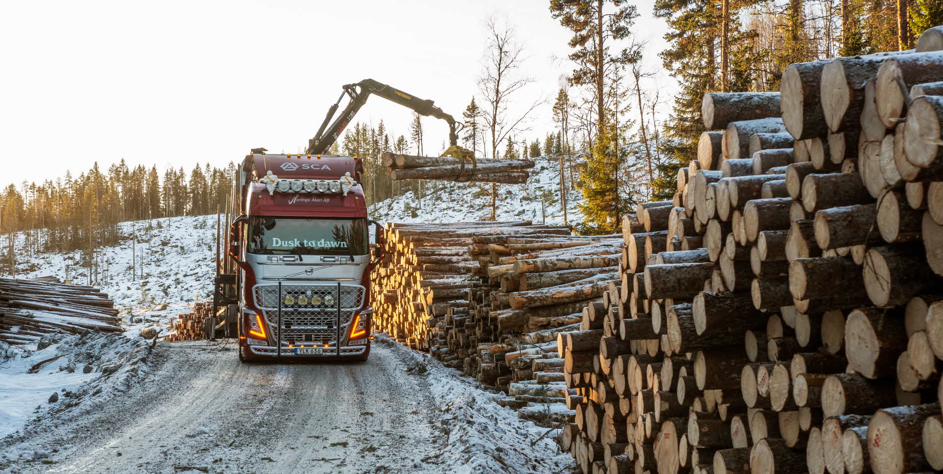
{"type": "Polygon", "coordinates": [[[0,341],[24,345],[43,335],[87,329],[120,333],[120,322],[114,302],[98,288],[67,285],[51,276],[0,278],[0,341]]]}

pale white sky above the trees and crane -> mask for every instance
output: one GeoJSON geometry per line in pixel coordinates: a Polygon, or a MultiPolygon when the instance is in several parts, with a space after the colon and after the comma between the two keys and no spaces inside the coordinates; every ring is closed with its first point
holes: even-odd
{"type": "MultiPolygon", "coordinates": [[[[485,21],[504,15],[525,46],[536,82],[521,106],[553,99],[571,66],[571,33],[548,0],[450,2],[283,0],[253,2],[0,2],[0,147],[7,178],[41,182],[94,161],[222,166],[251,148],[298,153],[340,86],[372,78],[431,99],[461,120],[477,91],[485,21]]],[[[636,34],[660,69],[666,26],[638,4],[636,34]]],[[[663,75],[661,83],[666,81],[663,75]]],[[[408,135],[411,111],[379,97],[355,122],[383,120],[408,135]]],[[[448,139],[424,118],[426,154],[448,139]]],[[[542,107],[525,134],[553,128],[542,107]]]]}

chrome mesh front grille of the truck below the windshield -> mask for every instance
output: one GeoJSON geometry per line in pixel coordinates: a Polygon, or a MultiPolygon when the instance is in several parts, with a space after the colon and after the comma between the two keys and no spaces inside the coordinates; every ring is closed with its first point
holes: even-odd
{"type": "MultiPolygon", "coordinates": [[[[326,344],[337,338],[338,300],[340,327],[347,324],[363,306],[366,288],[359,285],[303,284],[281,286],[282,341],[295,344],[326,344]],[[338,294],[339,293],[339,294],[338,294]]],[[[278,321],[278,285],[255,286],[256,306],[269,322],[278,321]]]]}

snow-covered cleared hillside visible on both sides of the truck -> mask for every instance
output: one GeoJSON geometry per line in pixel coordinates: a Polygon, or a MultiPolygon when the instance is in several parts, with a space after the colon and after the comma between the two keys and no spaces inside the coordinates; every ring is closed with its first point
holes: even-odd
{"type": "MultiPolygon", "coordinates": [[[[497,219],[529,220],[535,223],[563,223],[559,199],[558,161],[555,157],[536,158],[537,166],[525,185],[503,185],[497,219]],[[541,209],[541,206],[543,208],[541,209]],[[544,217],[546,219],[544,219],[544,217]]],[[[569,179],[568,179],[569,182],[569,179]]],[[[373,204],[370,216],[376,221],[476,221],[490,215],[488,184],[426,182],[422,204],[413,193],[373,204]]],[[[578,190],[567,193],[570,222],[582,220],[576,203],[578,190]]],[[[216,215],[128,221],[119,224],[128,236],[114,246],[96,249],[99,258],[92,284],[99,286],[130,319],[173,317],[192,302],[212,298],[213,259],[216,253],[216,215]],[[135,236],[134,238],[130,236],[135,236]],[[137,239],[135,244],[134,239],[137,239]],[[135,248],[136,247],[136,248],[135,248]],[[135,269],[135,270],[132,270],[135,269]],[[142,276],[141,276],[142,275],[142,276]],[[155,311],[161,303],[167,308],[155,311]]],[[[17,236],[18,248],[25,248],[24,236],[17,236]]],[[[18,253],[17,278],[57,276],[65,282],[86,285],[89,269],[82,251],[70,253],[18,253]]],[[[3,276],[9,276],[5,274],[3,276]]],[[[164,321],[160,321],[164,322],[164,321]]]]}

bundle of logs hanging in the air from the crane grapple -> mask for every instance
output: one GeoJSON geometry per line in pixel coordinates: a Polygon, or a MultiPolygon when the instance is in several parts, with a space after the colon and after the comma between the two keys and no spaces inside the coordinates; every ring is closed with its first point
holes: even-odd
{"type": "Polygon", "coordinates": [[[529,159],[478,158],[460,160],[450,156],[415,156],[394,153],[383,154],[383,166],[389,178],[431,179],[438,181],[477,181],[520,185],[527,182],[535,162],[529,159]]]}

